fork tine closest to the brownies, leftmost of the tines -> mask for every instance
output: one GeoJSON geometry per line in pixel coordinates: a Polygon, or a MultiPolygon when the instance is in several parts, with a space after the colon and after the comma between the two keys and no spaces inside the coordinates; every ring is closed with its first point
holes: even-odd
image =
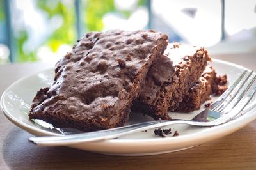
{"type": "Polygon", "coordinates": [[[238,79],[211,105],[211,111],[215,111],[215,109],[226,100],[226,98],[230,95],[230,93],[232,93],[234,88],[236,88],[237,84],[239,84],[246,73],[247,70],[241,73],[238,79]]]}

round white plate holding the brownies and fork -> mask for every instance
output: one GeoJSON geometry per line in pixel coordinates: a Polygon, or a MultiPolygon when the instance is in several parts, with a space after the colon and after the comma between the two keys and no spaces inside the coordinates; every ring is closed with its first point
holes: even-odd
{"type": "MultiPolygon", "coordinates": [[[[214,66],[217,73],[221,75],[227,73],[229,83],[236,80],[239,73],[244,70],[248,70],[243,66],[217,59],[214,59],[211,65],[214,66]]],[[[28,77],[24,77],[6,89],[1,97],[1,108],[3,109],[6,117],[12,121],[12,123],[33,135],[41,136],[77,133],[77,130],[56,129],[52,128],[48,123],[44,123],[42,121],[34,122],[28,118],[29,107],[33,97],[35,97],[36,91],[45,86],[49,86],[53,80],[53,76],[53,69],[45,70],[28,77]]],[[[204,109],[204,107],[202,108],[204,109]]],[[[172,118],[189,119],[193,117],[196,112],[191,112],[189,114],[170,114],[172,114],[172,118]]],[[[152,129],[147,130],[147,132],[138,132],[132,135],[126,135],[118,139],[86,144],[74,144],[69,147],[111,155],[154,155],[184,150],[186,148],[191,148],[213,139],[223,137],[243,128],[248,123],[256,119],[256,114],[253,114],[254,112],[255,109],[236,120],[216,127],[202,128],[190,125],[172,125],[163,127],[172,128],[172,134],[166,135],[166,138],[155,136],[154,129],[152,129]],[[172,135],[175,130],[179,132],[179,136],[173,137],[172,135]]],[[[149,120],[152,120],[152,118],[143,116],[143,114],[132,113],[129,123],[138,123],[149,120]]]]}

